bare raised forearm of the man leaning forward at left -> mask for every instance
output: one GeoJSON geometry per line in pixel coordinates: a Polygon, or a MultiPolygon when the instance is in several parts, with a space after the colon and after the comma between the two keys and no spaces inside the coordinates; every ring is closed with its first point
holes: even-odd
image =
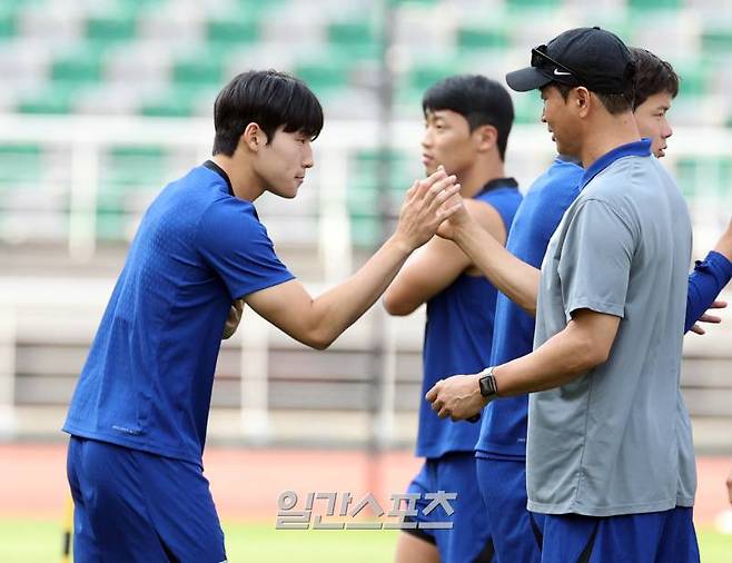
{"type": "Polygon", "coordinates": [[[376,303],[409,254],[407,245],[392,237],[356,274],[314,299],[316,332],[325,346],[376,303]]]}

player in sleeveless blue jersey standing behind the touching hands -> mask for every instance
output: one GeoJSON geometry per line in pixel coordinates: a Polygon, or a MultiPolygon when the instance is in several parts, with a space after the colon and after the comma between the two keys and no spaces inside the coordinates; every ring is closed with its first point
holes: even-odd
{"type": "MultiPolygon", "coordinates": [[[[522,196],[504,172],[513,122],[506,89],[483,76],[446,78],[423,98],[423,164],[457,177],[461,195],[482,229],[503,243],[522,196]]],[[[414,254],[384,294],[392,315],[408,315],[427,304],[423,394],[448,373],[487,365],[496,289],[454,243],[434,237],[414,254]]],[[[417,455],[425,457],[409,493],[457,493],[452,530],[405,530],[397,563],[487,562],[493,555],[487,515],[475,475],[473,448],[478,425],[441,421],[424,402],[419,411],[417,455]]],[[[423,505],[417,504],[418,508],[423,505]]],[[[432,520],[447,520],[437,514],[432,520]]],[[[429,524],[422,511],[418,525],[429,524]]]]}

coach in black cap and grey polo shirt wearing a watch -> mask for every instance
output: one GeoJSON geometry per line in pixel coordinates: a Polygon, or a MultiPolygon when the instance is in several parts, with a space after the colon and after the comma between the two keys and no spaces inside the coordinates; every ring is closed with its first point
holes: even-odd
{"type": "MultiPolygon", "coordinates": [[[[582,191],[536,270],[456,213],[442,227],[508,297],[536,312],[534,350],[438,382],[426,395],[463,419],[530,396],[528,508],[543,562],[699,561],[689,415],[679,392],[691,258],[681,192],[641,140],[634,60],[613,33],[577,28],[506,76],[541,89],[557,151],[580,158],[582,191]],[[491,261],[489,265],[486,265],[491,261]]],[[[501,478],[496,475],[495,478],[501,478]]]]}

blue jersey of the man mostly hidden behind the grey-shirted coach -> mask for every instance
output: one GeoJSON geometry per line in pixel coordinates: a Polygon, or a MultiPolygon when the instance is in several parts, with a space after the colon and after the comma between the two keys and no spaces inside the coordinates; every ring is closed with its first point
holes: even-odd
{"type": "MultiPolygon", "coordinates": [[[[556,230],[564,211],[580,194],[584,169],[578,164],[556,157],[526,192],[513,226],[506,248],[521,260],[541,268],[548,240],[556,230]]],[[[501,365],[533,350],[534,317],[526,314],[504,294],[498,294],[491,357],[483,367],[501,365]]],[[[494,401],[484,409],[479,438],[475,445],[478,456],[523,457],[526,455],[526,419],[528,395],[494,401]]]]}

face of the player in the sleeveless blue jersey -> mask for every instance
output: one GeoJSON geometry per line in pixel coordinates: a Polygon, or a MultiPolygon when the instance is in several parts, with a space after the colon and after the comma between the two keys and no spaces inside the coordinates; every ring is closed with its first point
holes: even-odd
{"type": "Polygon", "coordinates": [[[422,138],[422,164],[426,175],[436,171],[439,165],[448,174],[459,174],[472,166],[477,151],[474,137],[461,113],[449,109],[427,110],[422,138]]]}

